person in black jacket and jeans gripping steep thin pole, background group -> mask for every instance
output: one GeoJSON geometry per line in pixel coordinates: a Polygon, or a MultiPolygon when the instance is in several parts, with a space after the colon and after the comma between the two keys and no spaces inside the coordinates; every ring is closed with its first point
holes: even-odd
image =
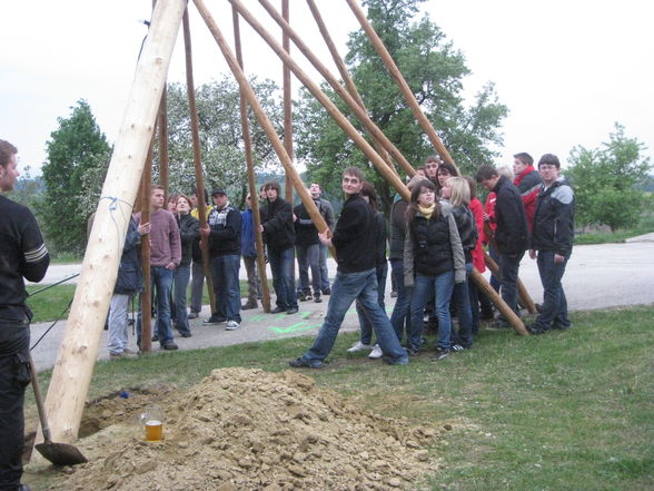
{"type": "Polygon", "coordinates": [[[268,261],[272,273],[272,287],[277,296],[277,307],[271,314],[286,312],[297,314],[297,296],[293,262],[295,261],[295,228],[293,207],[281,198],[281,186],[276,180],[266,183],[266,205],[260,209],[264,240],[268,246],[268,261]]]}

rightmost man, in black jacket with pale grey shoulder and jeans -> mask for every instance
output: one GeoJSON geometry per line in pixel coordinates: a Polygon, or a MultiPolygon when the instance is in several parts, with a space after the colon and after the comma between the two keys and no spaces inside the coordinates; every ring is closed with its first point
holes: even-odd
{"type": "Polygon", "coordinates": [[[536,199],[529,257],[537,259],[543,305],[536,321],[528,326],[533,334],[567,330],[572,325],[561,279],[572,254],[575,195],[567,183],[559,180],[559,170],[558,157],[552,154],[541,157],[538,173],[543,186],[536,199]]]}

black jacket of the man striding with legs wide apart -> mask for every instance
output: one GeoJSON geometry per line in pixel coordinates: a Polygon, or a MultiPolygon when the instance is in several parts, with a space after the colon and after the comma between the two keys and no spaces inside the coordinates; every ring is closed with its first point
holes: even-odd
{"type": "Polygon", "coordinates": [[[340,273],[360,273],[375,267],[375,225],[370,205],[360,195],[343,204],[331,244],[340,273]]]}

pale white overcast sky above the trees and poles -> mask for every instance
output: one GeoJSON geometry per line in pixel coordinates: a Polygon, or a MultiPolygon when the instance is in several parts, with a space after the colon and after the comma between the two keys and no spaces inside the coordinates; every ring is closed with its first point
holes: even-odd
{"type": "MultiPolygon", "coordinates": [[[[280,8],[280,0],[271,1],[280,8]]],[[[258,2],[244,3],[279,33],[258,2]]],[[[206,4],[231,40],[229,3],[206,4]]],[[[317,4],[344,56],[348,32],[359,28],[356,19],[344,0],[317,4]]],[[[509,109],[494,164],[509,165],[513,154],[527,151],[536,160],[556,154],[565,166],[574,146],[607,141],[616,121],[648,147],[646,156],[654,155],[653,3],[427,0],[422,8],[464,53],[473,72],[464,79],[466,96],[472,100],[493,81],[509,109]]],[[[150,11],[150,0],[3,2],[0,138],[19,148],[21,168],[39,174],[50,132],[79,99],[116,140],[150,11]]],[[[290,0],[290,23],[336,72],[306,2],[290,0]]],[[[196,85],[221,78],[228,67],[192,4],[190,26],[196,85]]],[[[244,21],[240,29],[246,72],[281,86],[281,62],[244,21]]],[[[293,48],[291,55],[301,60],[293,48]]],[[[320,81],[307,62],[300,65],[320,81]]],[[[185,79],[180,29],[168,80],[185,79]]],[[[293,85],[297,90],[295,78],[293,85]]]]}

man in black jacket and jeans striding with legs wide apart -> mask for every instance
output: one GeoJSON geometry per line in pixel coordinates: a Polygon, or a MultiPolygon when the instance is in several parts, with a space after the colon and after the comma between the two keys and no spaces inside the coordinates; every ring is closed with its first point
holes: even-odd
{"type": "Polygon", "coordinates": [[[345,314],[355,299],[368,315],[377,342],[384,353],[384,361],[392,365],[408,363],[406,350],[402,347],[388,316],[377,298],[377,272],[375,268],[375,216],[370,206],[359,194],[364,173],[349,167],[343,173],[341,188],[345,203],[334,234],[329,230],[318,234],[320,242],[336,248],[338,268],[331,287],[325,323],[314,345],[299,359],[291,360],[293,367],[320,369],[334,347],[334,342],[345,314]]]}

